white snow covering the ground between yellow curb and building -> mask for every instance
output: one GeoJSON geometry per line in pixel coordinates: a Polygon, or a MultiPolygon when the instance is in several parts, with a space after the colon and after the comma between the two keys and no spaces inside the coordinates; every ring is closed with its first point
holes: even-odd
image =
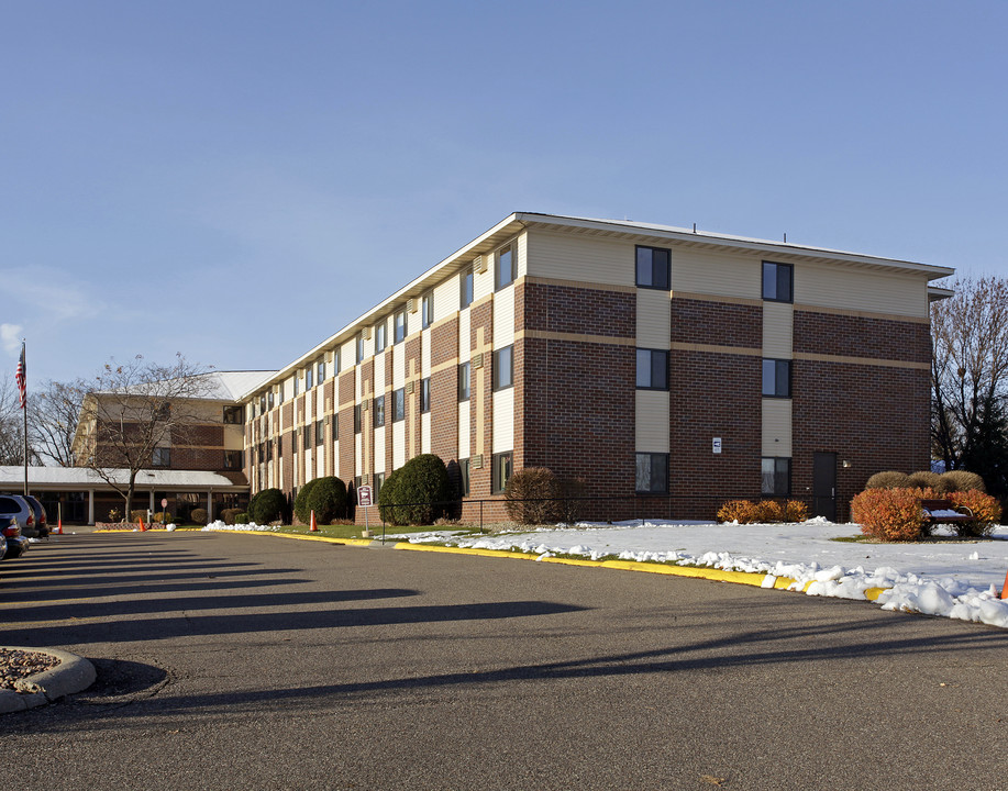
{"type": "MultiPolygon", "coordinates": [[[[942,530],[937,531],[941,534],[942,530]]],[[[1008,628],[1008,600],[998,592],[1008,571],[1008,527],[992,541],[866,544],[830,541],[861,535],[856,524],[809,520],[801,524],[711,524],[651,521],[531,533],[452,536],[444,532],[403,534],[401,541],[480,549],[510,549],[549,556],[677,562],[789,577],[809,595],[866,599],[878,595],[884,610],[944,615],[1008,628]]],[[[946,532],[945,535],[951,535],[946,532]]],[[[773,584],[773,579],[764,586],[773,584]]]]}

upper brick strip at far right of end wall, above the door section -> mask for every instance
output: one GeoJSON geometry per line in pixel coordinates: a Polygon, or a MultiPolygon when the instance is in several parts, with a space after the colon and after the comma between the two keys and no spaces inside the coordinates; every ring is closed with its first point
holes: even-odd
{"type": "Polygon", "coordinates": [[[931,363],[927,323],[795,311],[795,353],[931,363]]]}

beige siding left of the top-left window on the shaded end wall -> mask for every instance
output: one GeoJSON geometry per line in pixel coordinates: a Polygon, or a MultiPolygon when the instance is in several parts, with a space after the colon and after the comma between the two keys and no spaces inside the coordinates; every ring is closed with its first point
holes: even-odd
{"type": "Polygon", "coordinates": [[[528,234],[530,276],[580,282],[635,285],[632,242],[579,237],[547,231],[528,234]]]}

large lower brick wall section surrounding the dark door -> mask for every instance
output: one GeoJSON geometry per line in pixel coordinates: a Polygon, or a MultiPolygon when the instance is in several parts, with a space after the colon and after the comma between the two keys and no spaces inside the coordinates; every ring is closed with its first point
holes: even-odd
{"type": "Polygon", "coordinates": [[[811,495],[817,450],[838,455],[841,520],[874,472],[930,468],[930,371],[795,360],[793,385],[795,495],[811,495]]]}

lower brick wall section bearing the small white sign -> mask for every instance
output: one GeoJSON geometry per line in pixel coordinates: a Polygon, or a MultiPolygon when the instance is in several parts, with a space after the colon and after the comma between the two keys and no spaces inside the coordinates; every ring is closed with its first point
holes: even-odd
{"type": "Polygon", "coordinates": [[[761,376],[760,357],[672,352],[668,468],[677,516],[708,519],[720,499],[758,494],[761,376]],[[713,437],[721,437],[720,454],[713,437]]]}

